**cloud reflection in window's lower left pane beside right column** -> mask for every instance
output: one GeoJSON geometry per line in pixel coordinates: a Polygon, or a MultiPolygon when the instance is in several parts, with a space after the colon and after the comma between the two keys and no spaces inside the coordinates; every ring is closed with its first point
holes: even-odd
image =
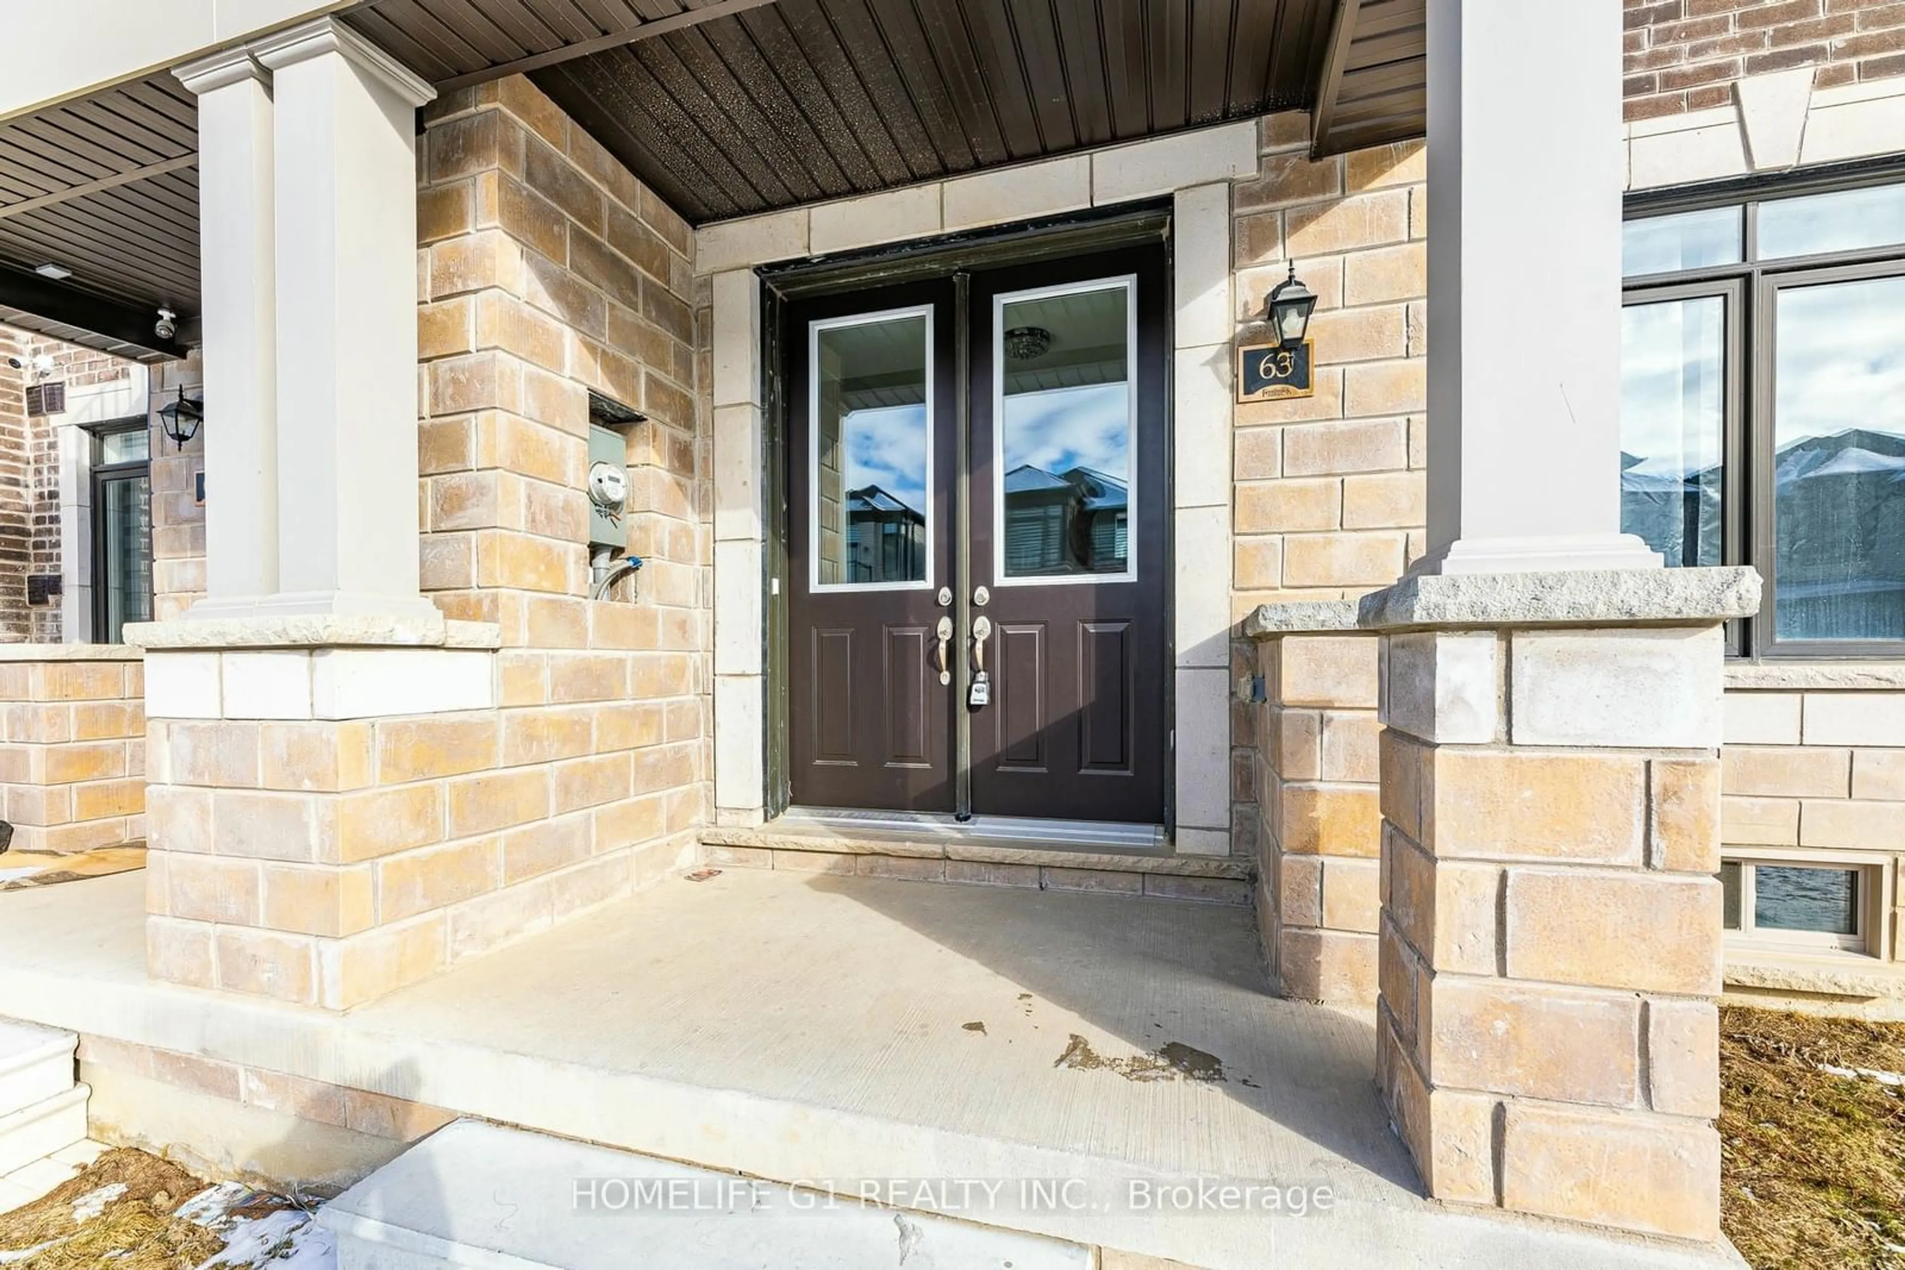
{"type": "Polygon", "coordinates": [[[1720,461],[1720,297],[1621,310],[1621,449],[1659,476],[1720,461]]]}

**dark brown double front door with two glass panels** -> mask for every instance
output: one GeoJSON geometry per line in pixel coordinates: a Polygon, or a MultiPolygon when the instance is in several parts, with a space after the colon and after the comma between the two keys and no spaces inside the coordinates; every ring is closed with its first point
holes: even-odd
{"type": "Polygon", "coordinates": [[[796,805],[1164,819],[1164,288],[1143,248],[789,308],[796,805]]]}

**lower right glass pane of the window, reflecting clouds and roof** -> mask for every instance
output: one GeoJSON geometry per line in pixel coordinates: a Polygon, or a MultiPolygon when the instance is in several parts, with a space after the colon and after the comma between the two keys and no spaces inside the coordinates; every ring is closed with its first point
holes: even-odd
{"type": "Polygon", "coordinates": [[[1774,604],[1781,640],[1905,630],[1905,276],[1775,297],[1774,604]]]}

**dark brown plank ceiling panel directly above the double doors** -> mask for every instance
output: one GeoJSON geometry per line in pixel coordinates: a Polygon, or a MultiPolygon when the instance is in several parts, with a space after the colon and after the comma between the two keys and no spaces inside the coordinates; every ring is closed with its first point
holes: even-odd
{"type": "Polygon", "coordinates": [[[1330,0],[779,0],[531,78],[690,221],[1313,99],[1330,0]]]}

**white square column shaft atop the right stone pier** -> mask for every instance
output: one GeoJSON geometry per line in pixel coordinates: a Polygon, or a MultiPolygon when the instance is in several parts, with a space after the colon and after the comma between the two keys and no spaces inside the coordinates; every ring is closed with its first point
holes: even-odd
{"type": "Polygon", "coordinates": [[[1415,573],[1659,567],[1619,531],[1621,185],[1617,0],[1429,0],[1415,573]]]}

